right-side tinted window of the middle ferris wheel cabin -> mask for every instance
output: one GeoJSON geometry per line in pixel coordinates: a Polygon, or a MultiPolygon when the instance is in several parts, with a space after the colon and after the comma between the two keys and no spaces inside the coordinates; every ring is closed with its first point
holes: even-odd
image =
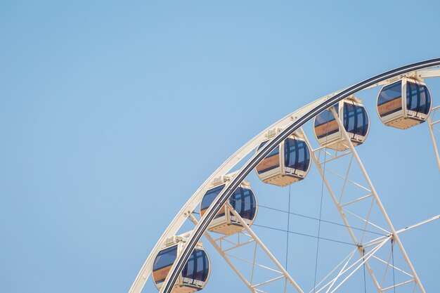
{"type": "Polygon", "coordinates": [[[287,138],[284,143],[285,167],[306,171],[310,162],[310,151],[305,141],[287,138]]]}

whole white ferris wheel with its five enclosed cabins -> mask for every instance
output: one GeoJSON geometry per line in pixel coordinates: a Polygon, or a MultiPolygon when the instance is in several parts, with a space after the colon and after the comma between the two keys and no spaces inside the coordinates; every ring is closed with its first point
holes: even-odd
{"type": "MultiPolygon", "coordinates": [[[[212,268],[207,249],[200,242],[202,236],[214,247],[209,254],[219,253],[242,281],[242,288],[235,288],[234,292],[247,289],[254,293],[273,292],[270,286],[274,283],[281,284],[278,288],[282,288],[275,292],[346,292],[344,284],[356,273],[363,272],[361,288],[365,288],[365,279],[368,279],[377,292],[395,292],[399,288],[399,292],[425,293],[400,235],[439,219],[440,215],[406,228],[394,227],[356,151],[356,146],[368,143],[370,116],[373,116],[373,111],[370,109],[369,113],[358,96],[361,91],[380,87],[374,97],[375,115],[384,127],[409,129],[427,125],[434,150],[432,157],[440,171],[436,145],[440,136],[440,105],[435,105],[425,82],[434,77],[440,77],[440,58],[399,67],[323,96],[261,131],[214,171],[181,208],[150,252],[129,293],[140,293],[150,277],[160,293],[202,290],[212,268]],[[313,134],[306,131],[308,122],[313,134]],[[316,142],[318,147],[313,147],[316,142]],[[333,169],[332,164],[336,162],[337,169],[333,169]],[[295,183],[307,180],[312,168],[318,170],[319,182],[330,195],[342,223],[321,218],[322,194],[320,216],[315,220],[320,225],[328,222],[342,226],[350,240],[345,244],[352,249],[321,280],[316,280],[315,267],[313,287],[304,288],[295,274],[287,270],[287,261],[283,265],[252,229],[257,226],[254,222],[259,210],[270,207],[259,204],[258,189],[254,185],[252,188],[247,178],[252,174],[262,183],[287,188],[290,192],[295,183]],[[358,170],[356,179],[349,176],[353,169],[358,170]],[[188,222],[193,228],[177,235],[188,222]],[[239,253],[234,254],[235,251],[239,253]],[[243,251],[250,257],[246,258],[243,251]],[[269,264],[259,262],[261,255],[269,264]],[[247,263],[247,271],[236,261],[247,263]],[[260,271],[257,278],[257,268],[268,273],[264,275],[260,271]],[[396,278],[396,274],[400,278],[396,278]]],[[[288,216],[293,214],[290,193],[288,209],[282,212],[288,216]]],[[[288,222],[285,232],[288,242],[291,233],[288,222]]],[[[313,237],[318,241],[338,242],[323,237],[319,231],[313,237]]]]}

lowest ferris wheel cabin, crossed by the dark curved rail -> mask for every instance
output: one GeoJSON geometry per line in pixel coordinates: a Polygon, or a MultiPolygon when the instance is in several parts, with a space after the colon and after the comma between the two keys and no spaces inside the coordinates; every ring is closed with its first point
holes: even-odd
{"type": "MultiPolygon", "coordinates": [[[[153,263],[153,282],[157,289],[162,288],[177,255],[183,249],[189,233],[169,238],[164,248],[157,254],[153,263]]],[[[190,293],[203,289],[209,279],[210,262],[202,242],[198,242],[188,262],[181,271],[172,289],[172,293],[190,293]]]]}

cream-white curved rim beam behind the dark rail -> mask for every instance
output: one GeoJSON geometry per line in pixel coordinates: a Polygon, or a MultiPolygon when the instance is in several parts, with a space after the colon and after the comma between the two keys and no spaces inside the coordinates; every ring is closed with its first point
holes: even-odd
{"type": "MultiPolygon", "coordinates": [[[[389,79],[385,79],[382,82],[377,82],[376,84],[372,84],[370,86],[366,86],[364,89],[370,89],[375,86],[380,86],[382,84],[388,84],[389,82],[392,82],[396,79],[399,79],[403,76],[413,76],[416,75],[418,77],[422,78],[428,78],[428,77],[440,77],[440,69],[434,69],[434,70],[415,70],[413,72],[408,72],[406,74],[399,74],[396,77],[392,77],[389,79]]],[[[348,89],[348,88],[346,88],[348,89]]],[[[157,252],[159,252],[160,248],[162,247],[164,240],[166,240],[168,237],[175,235],[181,225],[184,221],[186,221],[186,218],[190,215],[190,213],[195,209],[195,207],[199,204],[200,200],[202,199],[202,196],[205,195],[208,188],[212,186],[212,180],[215,177],[222,176],[224,174],[227,174],[233,167],[235,167],[236,164],[238,164],[244,157],[250,154],[254,148],[256,148],[264,139],[266,138],[265,134],[268,130],[274,129],[276,127],[284,128],[286,125],[289,125],[292,123],[292,121],[295,121],[297,118],[302,117],[306,113],[310,112],[312,109],[316,108],[318,105],[321,105],[329,98],[332,98],[333,96],[337,95],[338,93],[341,93],[345,89],[342,89],[340,91],[335,91],[334,93],[330,93],[327,96],[323,96],[322,98],[319,98],[318,100],[315,100],[312,103],[309,103],[308,105],[304,106],[303,108],[300,108],[299,110],[290,113],[290,115],[285,116],[283,119],[280,119],[278,122],[272,124],[264,131],[261,131],[260,134],[252,138],[249,142],[247,142],[245,145],[240,148],[237,152],[235,152],[231,157],[229,157],[226,162],[224,162],[214,173],[207,178],[205,183],[203,183],[200,188],[190,197],[188,202],[181,208],[179,213],[175,216],[173,221],[170,223],[170,225],[167,227],[167,229],[164,231],[160,239],[157,241],[155,247],[150,252],[148,258],[146,259],[145,263],[143,263],[143,266],[141,268],[141,271],[136,276],[136,279],[134,280],[133,284],[131,285],[131,288],[129,290],[129,293],[140,293],[143,286],[145,285],[146,280],[148,280],[150,273],[151,273],[151,267],[153,263],[153,259],[155,258],[155,255],[157,252]]],[[[321,170],[322,171],[322,170],[321,170]]],[[[141,227],[143,227],[141,225],[141,227]]],[[[370,271],[370,270],[369,270],[370,271]]]]}

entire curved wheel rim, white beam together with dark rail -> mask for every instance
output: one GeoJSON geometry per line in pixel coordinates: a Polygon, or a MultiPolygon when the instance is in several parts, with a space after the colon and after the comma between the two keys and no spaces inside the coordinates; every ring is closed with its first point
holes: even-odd
{"type": "MultiPolygon", "coordinates": [[[[344,98],[347,98],[353,95],[354,93],[357,93],[358,91],[362,91],[363,89],[368,89],[375,86],[379,86],[381,84],[386,84],[392,79],[403,77],[410,73],[418,74],[419,72],[415,72],[417,70],[420,70],[420,74],[418,74],[418,77],[439,77],[440,76],[439,69],[425,70],[428,67],[434,67],[439,65],[440,65],[440,58],[435,58],[435,59],[426,60],[419,63],[413,63],[403,67],[399,67],[394,70],[390,70],[388,72],[384,72],[375,77],[371,77],[370,79],[366,79],[363,82],[354,84],[354,86],[350,86],[349,88],[342,89],[340,91],[336,91],[335,93],[331,93],[327,96],[324,96],[323,98],[319,98],[318,100],[309,103],[303,108],[300,108],[295,112],[292,112],[290,115],[287,115],[283,119],[280,119],[278,122],[272,124],[264,131],[261,131],[260,134],[252,138],[252,140],[250,140],[245,145],[243,145],[242,148],[240,148],[240,150],[238,150],[231,157],[229,157],[226,160],[226,162],[224,162],[224,164],[222,164],[216,171],[214,171],[214,173],[211,176],[209,176],[209,178],[207,178],[205,183],[203,183],[200,186],[200,188],[198,188],[198,190],[193,194],[193,196],[190,197],[190,200],[188,200],[188,202],[186,202],[186,204],[182,207],[181,211],[179,211],[179,214],[176,215],[172,223],[168,226],[167,230],[164,231],[159,241],[153,248],[152,252],[148,256],[148,259],[143,264],[141,271],[138,273],[136,280],[134,280],[133,285],[131,285],[129,293],[141,292],[143,286],[145,285],[146,280],[148,279],[151,273],[151,264],[155,257],[155,254],[157,254],[159,249],[162,248],[162,245],[164,241],[167,239],[167,237],[175,235],[175,233],[177,232],[177,230],[179,230],[179,228],[186,220],[188,215],[193,211],[193,209],[195,209],[197,204],[202,199],[202,196],[209,188],[209,184],[211,183],[212,179],[215,178],[216,176],[227,174],[228,171],[230,171],[238,162],[240,162],[240,160],[243,157],[247,156],[252,150],[254,150],[254,148],[257,147],[259,142],[263,141],[266,138],[265,134],[269,129],[273,129],[274,127],[280,127],[280,126],[285,127],[282,131],[280,131],[280,133],[278,133],[275,137],[273,137],[271,141],[266,143],[264,147],[260,148],[259,151],[255,153],[246,162],[246,164],[238,171],[235,177],[226,184],[226,187],[224,188],[224,190],[221,191],[221,193],[219,193],[219,195],[216,197],[214,202],[212,202],[208,211],[205,213],[204,216],[202,216],[202,219],[200,219],[198,224],[195,226],[195,229],[193,230],[193,233],[191,233],[185,248],[183,249],[181,254],[177,256],[176,262],[172,266],[172,269],[170,270],[167,279],[162,284],[161,292],[169,293],[172,291],[172,287],[174,285],[174,282],[176,282],[176,279],[180,271],[183,269],[183,266],[185,265],[186,261],[188,261],[188,258],[191,252],[193,252],[196,243],[200,240],[200,237],[202,237],[203,233],[205,233],[207,226],[212,221],[212,219],[214,219],[214,216],[221,209],[221,207],[223,207],[225,202],[234,192],[235,188],[237,188],[238,185],[245,179],[245,177],[248,174],[250,174],[252,169],[254,169],[254,167],[256,167],[257,164],[259,164],[259,162],[261,162],[261,160],[264,159],[264,157],[266,157],[266,155],[268,155],[269,152],[271,152],[274,148],[276,148],[276,146],[278,146],[280,142],[282,142],[285,138],[287,138],[287,136],[295,132],[297,129],[299,129],[299,127],[304,125],[306,122],[308,122],[310,119],[318,115],[323,110],[338,103],[339,100],[343,100],[344,98]]],[[[389,226],[392,227],[391,223],[389,224],[390,224],[389,226]]],[[[417,281],[419,282],[419,280],[417,281]]]]}

